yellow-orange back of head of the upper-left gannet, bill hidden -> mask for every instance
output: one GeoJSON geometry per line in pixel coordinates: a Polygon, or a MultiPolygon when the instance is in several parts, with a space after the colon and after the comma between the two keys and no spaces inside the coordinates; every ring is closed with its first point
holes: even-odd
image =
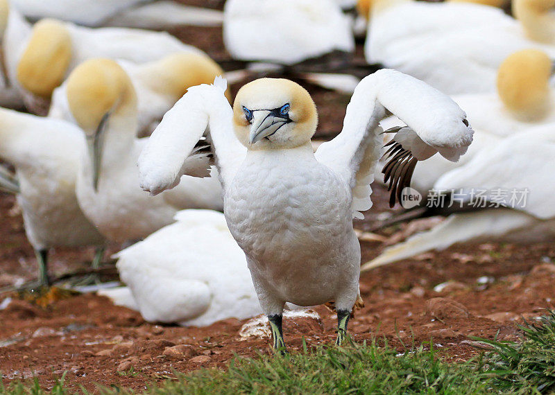
{"type": "Polygon", "coordinates": [[[71,36],[65,24],[42,19],[17,64],[17,80],[31,93],[49,98],[64,80],[71,61],[71,36]]]}

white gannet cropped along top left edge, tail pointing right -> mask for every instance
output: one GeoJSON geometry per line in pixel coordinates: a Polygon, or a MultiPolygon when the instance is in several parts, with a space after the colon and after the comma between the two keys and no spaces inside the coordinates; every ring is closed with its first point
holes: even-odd
{"type": "Polygon", "coordinates": [[[221,11],[153,0],[11,0],[30,19],[55,18],[84,26],[163,28],[218,26],[221,11]]]}

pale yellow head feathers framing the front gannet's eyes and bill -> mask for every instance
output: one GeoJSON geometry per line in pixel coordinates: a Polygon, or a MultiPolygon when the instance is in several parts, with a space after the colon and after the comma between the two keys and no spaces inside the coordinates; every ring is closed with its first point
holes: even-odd
{"type": "Polygon", "coordinates": [[[243,106],[248,109],[275,109],[289,104],[289,118],[294,133],[287,142],[272,143],[266,148],[295,148],[308,143],[318,126],[318,111],[308,91],[298,83],[284,78],[259,78],[244,85],[233,103],[233,124],[237,139],[250,148],[250,122],[243,106]],[[269,107],[269,108],[268,108],[269,107]]]}

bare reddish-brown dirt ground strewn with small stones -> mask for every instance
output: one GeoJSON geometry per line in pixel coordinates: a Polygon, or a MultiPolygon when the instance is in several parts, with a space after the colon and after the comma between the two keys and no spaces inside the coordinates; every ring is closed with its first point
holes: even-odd
{"type": "MultiPolygon", "coordinates": [[[[183,1],[185,2],[185,1],[183,1]]],[[[187,1],[221,8],[221,1],[187,1]]],[[[199,46],[224,64],[229,60],[217,28],[182,28],[171,33],[199,46]]],[[[360,53],[360,51],[359,51],[360,53]]],[[[359,55],[358,55],[359,56],[359,55]]],[[[356,58],[356,57],[355,57],[356,58]]],[[[341,130],[348,97],[303,84],[321,115],[319,134],[341,130]]],[[[232,87],[234,92],[238,86],[232,87]]],[[[355,227],[370,229],[379,213],[389,211],[386,191],[373,186],[371,209],[355,227]]],[[[0,194],[0,287],[35,277],[35,258],[28,244],[15,198],[0,194]]],[[[388,242],[407,225],[382,232],[388,242]]],[[[386,242],[361,243],[364,261],[377,256],[386,242]]],[[[112,246],[111,252],[119,246],[112,246]]],[[[56,249],[51,274],[86,270],[93,251],[56,249]]],[[[108,256],[108,255],[107,255],[108,256]]],[[[445,358],[466,360],[477,354],[468,336],[515,340],[517,323],[554,308],[555,245],[461,244],[443,252],[422,254],[361,276],[366,307],[350,323],[356,342],[384,337],[403,344],[432,342],[445,358]],[[438,284],[451,281],[440,292],[438,284]],[[435,299],[435,298],[443,299],[435,299]]],[[[104,280],[114,278],[106,265],[104,280]]],[[[241,340],[237,319],[206,328],[181,328],[144,322],[132,310],[113,306],[96,295],[78,295],[40,307],[17,295],[0,310],[0,371],[4,383],[36,376],[44,387],[67,371],[67,383],[94,390],[95,383],[143,389],[201,367],[225,368],[234,357],[268,353],[267,339],[241,340]],[[171,348],[174,347],[175,348],[171,348]],[[133,368],[133,371],[130,369],[133,368]]],[[[2,297],[0,297],[0,304],[2,297]]],[[[1,306],[1,305],[0,305],[1,306]]],[[[316,308],[321,321],[286,320],[284,333],[291,351],[334,342],[334,315],[316,308]]]]}

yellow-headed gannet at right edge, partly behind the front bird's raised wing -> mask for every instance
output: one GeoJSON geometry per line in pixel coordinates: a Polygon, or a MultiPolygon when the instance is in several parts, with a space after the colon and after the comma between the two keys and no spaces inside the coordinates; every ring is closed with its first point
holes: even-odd
{"type": "MultiPolygon", "coordinates": [[[[458,162],[434,155],[414,170],[411,186],[427,195],[441,175],[464,166],[480,150],[495,146],[511,134],[534,126],[552,125],[555,130],[555,94],[549,85],[552,61],[537,49],[525,49],[510,55],[497,73],[497,94],[451,96],[465,109],[474,128],[474,141],[458,162]]],[[[380,123],[384,130],[404,126],[391,116],[380,123]]],[[[380,182],[383,177],[377,178],[380,182]]]]}

